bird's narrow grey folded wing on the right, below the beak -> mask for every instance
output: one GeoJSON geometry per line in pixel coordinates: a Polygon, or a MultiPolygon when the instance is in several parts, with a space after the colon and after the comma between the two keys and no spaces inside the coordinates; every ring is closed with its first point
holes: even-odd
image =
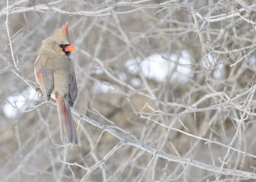
{"type": "Polygon", "coordinates": [[[78,86],[75,79],[75,72],[69,73],[69,104],[73,106],[78,96],[78,86]]]}

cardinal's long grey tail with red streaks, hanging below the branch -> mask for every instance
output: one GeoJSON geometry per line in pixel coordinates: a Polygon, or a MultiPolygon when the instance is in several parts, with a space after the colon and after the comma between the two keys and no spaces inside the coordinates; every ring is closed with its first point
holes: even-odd
{"type": "Polygon", "coordinates": [[[60,138],[64,145],[81,145],[81,139],[75,129],[69,101],[66,97],[56,96],[56,105],[59,115],[60,138]]]}

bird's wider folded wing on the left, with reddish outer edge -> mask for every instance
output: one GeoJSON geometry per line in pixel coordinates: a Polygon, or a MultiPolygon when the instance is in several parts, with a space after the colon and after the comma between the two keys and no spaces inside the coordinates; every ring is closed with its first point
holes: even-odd
{"type": "Polygon", "coordinates": [[[41,56],[38,55],[34,65],[35,76],[38,84],[40,85],[44,98],[46,100],[50,100],[50,94],[54,88],[53,70],[47,69],[43,63],[44,61],[41,59],[41,56]]]}

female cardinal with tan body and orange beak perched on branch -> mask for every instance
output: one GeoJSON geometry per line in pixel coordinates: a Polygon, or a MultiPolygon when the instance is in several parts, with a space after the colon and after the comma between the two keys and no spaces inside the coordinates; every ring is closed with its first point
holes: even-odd
{"type": "Polygon", "coordinates": [[[43,40],[34,65],[35,79],[44,98],[47,101],[50,96],[56,99],[60,137],[64,145],[81,145],[70,110],[78,94],[75,70],[69,58],[69,53],[74,50],[66,23],[53,37],[43,40]]]}

